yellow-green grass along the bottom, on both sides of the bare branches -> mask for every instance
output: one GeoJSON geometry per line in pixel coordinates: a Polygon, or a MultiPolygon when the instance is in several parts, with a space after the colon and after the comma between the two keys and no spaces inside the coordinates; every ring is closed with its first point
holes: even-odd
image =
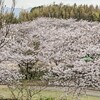
{"type": "MultiPolygon", "coordinates": [[[[16,94],[16,92],[15,92],[16,94]]],[[[12,95],[9,91],[9,89],[6,86],[0,86],[0,97],[3,98],[12,98],[12,95]]],[[[33,96],[32,100],[76,100],[76,97],[71,97],[64,94],[62,91],[57,91],[57,90],[43,90],[40,93],[36,94],[33,96]],[[40,99],[42,98],[42,99],[40,99]]],[[[80,96],[80,100],[100,100],[100,97],[98,96],[80,96]]],[[[1,100],[1,99],[0,99],[1,100]]]]}

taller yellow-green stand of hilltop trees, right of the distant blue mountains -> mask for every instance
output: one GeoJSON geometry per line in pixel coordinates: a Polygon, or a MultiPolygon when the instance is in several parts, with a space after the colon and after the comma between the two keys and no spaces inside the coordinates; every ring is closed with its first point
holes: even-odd
{"type": "MultiPolygon", "coordinates": [[[[33,7],[30,11],[33,18],[37,17],[51,17],[51,18],[75,18],[77,20],[84,19],[88,21],[99,21],[100,9],[93,5],[64,5],[51,4],[47,6],[33,7]]],[[[32,18],[31,17],[31,18],[32,18]]],[[[32,19],[33,19],[32,18],[32,19]]]]}

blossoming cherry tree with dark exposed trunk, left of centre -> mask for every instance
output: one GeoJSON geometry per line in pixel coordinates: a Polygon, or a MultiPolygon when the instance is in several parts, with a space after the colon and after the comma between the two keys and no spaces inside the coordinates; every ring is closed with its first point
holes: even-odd
{"type": "MultiPolygon", "coordinates": [[[[21,30],[19,30],[20,32],[21,30]]],[[[14,34],[12,42],[6,47],[11,54],[9,59],[18,65],[20,72],[25,75],[25,79],[40,79],[44,74],[45,64],[38,58],[40,45],[38,38],[29,33],[19,33],[14,34]]]]}

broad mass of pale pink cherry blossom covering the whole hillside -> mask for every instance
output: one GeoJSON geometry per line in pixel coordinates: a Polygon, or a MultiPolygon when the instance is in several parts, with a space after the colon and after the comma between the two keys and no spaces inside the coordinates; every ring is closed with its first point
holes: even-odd
{"type": "Polygon", "coordinates": [[[26,79],[48,68],[56,85],[71,78],[70,85],[100,88],[100,23],[38,18],[10,28],[12,39],[0,58],[16,63],[26,79]]]}

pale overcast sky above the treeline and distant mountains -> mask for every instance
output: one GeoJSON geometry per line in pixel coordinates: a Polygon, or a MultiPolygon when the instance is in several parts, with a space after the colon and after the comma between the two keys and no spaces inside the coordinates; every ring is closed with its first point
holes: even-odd
{"type": "MultiPolygon", "coordinates": [[[[55,3],[64,3],[64,4],[93,4],[100,5],[100,0],[16,0],[17,8],[29,8],[39,5],[47,5],[55,3]]],[[[12,0],[5,0],[5,5],[8,7],[11,6],[12,0]]]]}

